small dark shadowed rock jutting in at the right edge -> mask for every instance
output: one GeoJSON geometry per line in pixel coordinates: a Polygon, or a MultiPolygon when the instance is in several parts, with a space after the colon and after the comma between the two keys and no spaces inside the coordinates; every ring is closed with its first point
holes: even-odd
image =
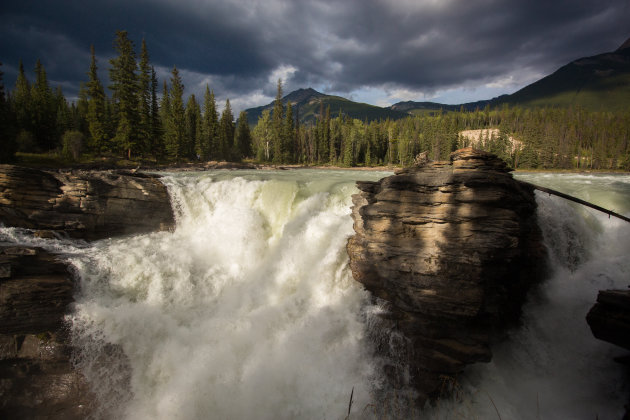
{"type": "Polygon", "coordinates": [[[630,290],[600,290],[586,321],[596,338],[630,350],[630,290]]]}

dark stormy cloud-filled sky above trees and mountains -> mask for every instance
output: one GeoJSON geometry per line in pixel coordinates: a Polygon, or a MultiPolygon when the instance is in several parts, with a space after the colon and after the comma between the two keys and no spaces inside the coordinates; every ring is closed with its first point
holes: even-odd
{"type": "Polygon", "coordinates": [[[177,66],[186,94],[206,83],[233,108],[269,103],[282,78],[388,106],[512,93],[571,60],[630,37],[629,0],[77,0],[4,1],[0,61],[12,90],[41,59],[76,96],[94,44],[101,81],[116,30],[147,41],[160,86],[177,66]]]}

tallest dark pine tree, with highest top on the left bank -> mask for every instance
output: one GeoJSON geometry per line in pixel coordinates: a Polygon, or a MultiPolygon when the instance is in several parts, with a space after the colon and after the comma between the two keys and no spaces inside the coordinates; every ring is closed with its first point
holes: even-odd
{"type": "Polygon", "coordinates": [[[111,59],[109,70],[113,99],[117,108],[117,127],[114,141],[118,148],[127,153],[138,149],[138,76],[133,42],[127,38],[127,31],[117,31],[114,49],[118,57],[111,59]]]}

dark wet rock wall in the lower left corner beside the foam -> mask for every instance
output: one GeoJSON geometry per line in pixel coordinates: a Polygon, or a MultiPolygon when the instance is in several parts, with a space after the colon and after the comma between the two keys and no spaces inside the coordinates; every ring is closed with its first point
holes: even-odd
{"type": "Polygon", "coordinates": [[[83,419],[93,405],[72,368],[64,314],[73,282],[41,248],[0,247],[0,418],[83,419]]]}

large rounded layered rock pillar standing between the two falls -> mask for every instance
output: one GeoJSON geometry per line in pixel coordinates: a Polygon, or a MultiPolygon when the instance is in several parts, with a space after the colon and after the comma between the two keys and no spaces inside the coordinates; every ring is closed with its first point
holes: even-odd
{"type": "Polygon", "coordinates": [[[518,319],[546,251],[533,190],[494,155],[462,149],[379,182],[358,182],[348,241],[354,278],[389,303],[419,402],[436,397],[518,319]]]}

